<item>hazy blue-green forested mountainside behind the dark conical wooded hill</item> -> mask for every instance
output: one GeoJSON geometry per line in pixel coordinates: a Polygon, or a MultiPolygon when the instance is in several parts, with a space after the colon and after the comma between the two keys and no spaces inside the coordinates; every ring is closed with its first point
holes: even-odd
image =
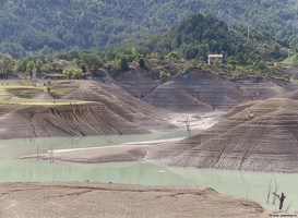
{"type": "MultiPolygon", "coordinates": [[[[166,32],[187,15],[222,14],[296,47],[295,0],[0,0],[0,52],[90,49],[166,32]]],[[[235,23],[235,20],[234,20],[235,23]]],[[[236,22],[239,24],[239,22],[236,22]]]]}

